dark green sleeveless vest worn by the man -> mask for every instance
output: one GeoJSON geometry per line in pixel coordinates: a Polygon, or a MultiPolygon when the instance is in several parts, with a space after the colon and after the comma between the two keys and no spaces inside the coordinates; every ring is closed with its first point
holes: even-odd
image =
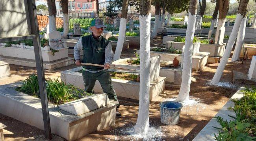
{"type": "MultiPolygon", "coordinates": [[[[109,43],[109,40],[100,36],[98,39],[94,39],[93,35],[87,35],[82,37],[83,44],[83,63],[94,63],[104,65],[105,63],[105,49],[109,43]]],[[[83,65],[83,68],[89,71],[98,71],[104,69],[104,67],[97,67],[91,65],[83,65]]]]}

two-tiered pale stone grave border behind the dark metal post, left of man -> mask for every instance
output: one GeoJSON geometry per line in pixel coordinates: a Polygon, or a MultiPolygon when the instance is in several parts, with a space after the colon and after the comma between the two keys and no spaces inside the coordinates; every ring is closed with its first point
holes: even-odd
{"type": "MultiPolygon", "coordinates": [[[[58,49],[54,54],[52,51],[42,50],[41,52],[45,69],[52,70],[74,63],[73,58],[68,56],[67,47],[58,49]]],[[[0,46],[0,60],[15,65],[36,67],[33,49],[0,46]]]]}

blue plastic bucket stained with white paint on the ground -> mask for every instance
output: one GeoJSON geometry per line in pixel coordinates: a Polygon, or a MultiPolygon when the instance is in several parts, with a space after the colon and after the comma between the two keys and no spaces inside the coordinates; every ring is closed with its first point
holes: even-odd
{"type": "Polygon", "coordinates": [[[180,110],[183,107],[181,103],[174,101],[165,101],[159,104],[161,123],[166,125],[176,125],[179,123],[180,110]]]}

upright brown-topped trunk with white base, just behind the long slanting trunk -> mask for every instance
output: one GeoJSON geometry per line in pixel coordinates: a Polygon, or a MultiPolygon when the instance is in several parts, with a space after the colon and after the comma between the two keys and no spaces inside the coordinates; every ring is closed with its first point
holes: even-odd
{"type": "Polygon", "coordinates": [[[215,33],[215,42],[218,42],[219,31],[221,30],[222,34],[220,36],[220,43],[223,43],[228,7],[229,7],[229,0],[219,0],[219,20],[218,20],[217,30],[215,33]]]}

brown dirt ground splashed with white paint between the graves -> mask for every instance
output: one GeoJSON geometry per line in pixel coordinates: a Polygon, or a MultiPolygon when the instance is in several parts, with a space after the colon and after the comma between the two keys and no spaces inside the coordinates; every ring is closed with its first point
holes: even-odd
{"type": "MultiPolygon", "coordinates": [[[[154,40],[151,45],[161,44],[161,37],[154,40]]],[[[135,49],[122,52],[122,58],[135,57],[135,49]]],[[[180,122],[177,125],[164,125],[160,121],[159,103],[163,100],[171,100],[177,97],[179,89],[165,88],[164,94],[161,94],[159,101],[150,103],[149,135],[150,141],[191,141],[202,128],[215,116],[230,97],[239,89],[241,84],[232,83],[233,71],[248,73],[251,60],[245,60],[228,63],[221,78],[220,86],[209,84],[217,69],[218,63],[210,64],[201,72],[193,72],[192,75],[197,78],[191,83],[189,104],[184,105],[180,115],[180,122]]],[[[76,67],[70,65],[53,71],[45,70],[46,78],[58,78],[60,72],[76,67]]],[[[36,74],[36,69],[32,67],[22,67],[10,65],[12,76],[0,80],[0,85],[24,80],[30,74],[36,74]]],[[[138,103],[130,101],[120,101],[120,112],[122,118],[116,119],[116,125],[100,131],[93,132],[78,141],[137,141],[143,140],[139,136],[132,135],[134,125],[136,124],[138,114],[138,103]]],[[[22,123],[0,114],[0,123],[7,125],[4,129],[6,141],[23,141],[26,139],[42,140],[44,131],[26,123],[22,123]],[[33,138],[31,138],[33,137],[33,138]]],[[[64,140],[54,136],[55,141],[64,140]]],[[[145,140],[145,139],[144,139],[145,140]]]]}

